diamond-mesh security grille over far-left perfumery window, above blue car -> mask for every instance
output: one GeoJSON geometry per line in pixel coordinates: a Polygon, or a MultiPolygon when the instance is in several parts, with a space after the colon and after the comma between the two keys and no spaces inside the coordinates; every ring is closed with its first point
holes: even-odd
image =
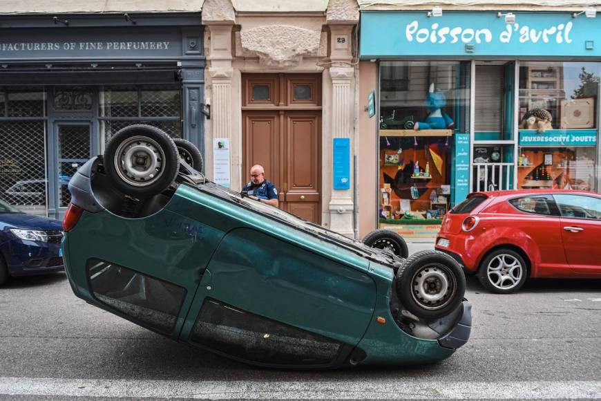
{"type": "Polygon", "coordinates": [[[46,214],[46,92],[0,88],[0,199],[46,214]]]}

